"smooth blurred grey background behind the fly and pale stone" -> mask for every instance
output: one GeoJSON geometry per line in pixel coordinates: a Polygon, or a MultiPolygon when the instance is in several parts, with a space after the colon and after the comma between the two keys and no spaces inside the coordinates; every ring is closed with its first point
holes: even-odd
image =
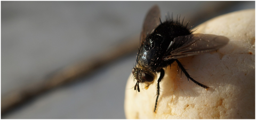
{"type": "MultiPolygon", "coordinates": [[[[255,2],[1,2],[1,98],[139,36],[154,4],[162,16],[201,17],[195,25],[255,8],[255,2]],[[209,9],[209,15],[198,16],[209,9]]],[[[44,92],[2,118],[125,118],[125,85],[135,56],[128,54],[79,81],[44,92]]]]}

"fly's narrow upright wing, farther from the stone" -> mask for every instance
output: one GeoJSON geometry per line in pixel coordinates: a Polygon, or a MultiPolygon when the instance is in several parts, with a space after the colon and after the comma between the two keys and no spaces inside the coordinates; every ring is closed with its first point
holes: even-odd
{"type": "Polygon", "coordinates": [[[148,11],[146,18],[143,23],[141,35],[140,35],[140,45],[143,44],[146,37],[153,31],[159,24],[161,17],[159,7],[157,5],[154,5],[150,8],[148,11]]]}

